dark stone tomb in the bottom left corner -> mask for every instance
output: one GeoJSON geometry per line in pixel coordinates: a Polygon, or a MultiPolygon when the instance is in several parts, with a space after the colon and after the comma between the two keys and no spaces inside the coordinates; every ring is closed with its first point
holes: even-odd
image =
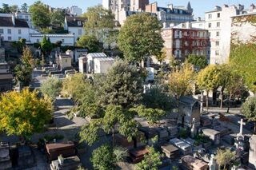
{"type": "Polygon", "coordinates": [[[0,169],[9,169],[11,167],[10,146],[7,142],[0,142],[0,169]]]}

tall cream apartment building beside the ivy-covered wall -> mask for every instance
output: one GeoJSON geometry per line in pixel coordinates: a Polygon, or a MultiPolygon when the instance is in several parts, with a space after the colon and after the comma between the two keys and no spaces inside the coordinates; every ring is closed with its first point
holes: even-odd
{"type": "Polygon", "coordinates": [[[210,64],[222,64],[230,55],[231,22],[233,16],[243,14],[244,6],[215,6],[205,14],[205,29],[210,36],[210,64]]]}

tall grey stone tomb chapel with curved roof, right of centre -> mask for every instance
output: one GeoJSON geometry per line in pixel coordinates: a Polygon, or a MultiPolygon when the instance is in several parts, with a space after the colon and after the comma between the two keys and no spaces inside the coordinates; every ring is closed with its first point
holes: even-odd
{"type": "Polygon", "coordinates": [[[193,97],[180,97],[178,123],[191,128],[194,119],[196,128],[200,126],[200,102],[193,97]]]}

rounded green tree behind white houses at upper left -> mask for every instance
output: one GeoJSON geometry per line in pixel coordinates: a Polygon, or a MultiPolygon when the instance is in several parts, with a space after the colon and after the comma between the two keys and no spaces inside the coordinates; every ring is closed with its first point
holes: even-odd
{"type": "Polygon", "coordinates": [[[50,11],[45,4],[40,1],[34,2],[29,11],[34,26],[40,29],[50,26],[50,11]]]}

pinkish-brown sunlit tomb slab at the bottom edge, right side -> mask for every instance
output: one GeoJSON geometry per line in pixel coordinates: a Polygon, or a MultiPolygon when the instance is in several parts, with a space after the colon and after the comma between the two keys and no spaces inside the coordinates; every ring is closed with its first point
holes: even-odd
{"type": "Polygon", "coordinates": [[[182,167],[189,170],[208,170],[209,166],[206,162],[198,160],[193,156],[182,157],[182,167]]]}

